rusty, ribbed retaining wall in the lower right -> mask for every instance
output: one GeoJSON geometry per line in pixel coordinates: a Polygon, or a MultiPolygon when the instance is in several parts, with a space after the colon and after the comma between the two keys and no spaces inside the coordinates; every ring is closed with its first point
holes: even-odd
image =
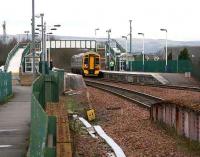
{"type": "Polygon", "coordinates": [[[175,128],[178,135],[200,142],[200,113],[172,103],[151,107],[151,119],[175,128]]]}

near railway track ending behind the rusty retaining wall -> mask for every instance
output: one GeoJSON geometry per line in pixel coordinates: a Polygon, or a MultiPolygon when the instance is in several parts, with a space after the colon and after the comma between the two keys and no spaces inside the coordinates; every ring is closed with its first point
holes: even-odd
{"type": "Polygon", "coordinates": [[[121,96],[125,99],[128,99],[134,103],[140,104],[147,108],[150,108],[151,105],[153,105],[153,104],[164,101],[163,99],[161,99],[159,97],[141,93],[141,92],[138,92],[135,90],[129,90],[126,88],[109,85],[109,84],[98,82],[98,81],[85,79],[85,83],[87,86],[95,87],[95,88],[116,94],[118,96],[121,96]]]}

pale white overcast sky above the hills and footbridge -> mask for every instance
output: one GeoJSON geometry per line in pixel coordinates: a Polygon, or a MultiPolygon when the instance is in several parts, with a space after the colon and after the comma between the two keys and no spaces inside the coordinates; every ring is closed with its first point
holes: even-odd
{"type": "MultiPolygon", "coordinates": [[[[8,34],[31,30],[32,0],[0,2],[0,23],[7,22],[8,34]]],[[[57,35],[93,37],[99,27],[98,37],[106,37],[111,28],[111,37],[118,38],[129,33],[132,19],[134,38],[143,32],[146,38],[161,39],[160,28],[167,28],[169,39],[200,40],[199,0],[35,0],[35,12],[44,13],[48,25],[62,25],[57,35]]]]}

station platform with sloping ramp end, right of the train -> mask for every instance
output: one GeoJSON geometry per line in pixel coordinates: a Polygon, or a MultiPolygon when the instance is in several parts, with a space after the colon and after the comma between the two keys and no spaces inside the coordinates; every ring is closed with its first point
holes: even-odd
{"type": "Polygon", "coordinates": [[[200,82],[192,77],[185,77],[184,73],[151,73],[107,70],[101,70],[101,72],[105,79],[115,81],[200,87],[200,82]]]}

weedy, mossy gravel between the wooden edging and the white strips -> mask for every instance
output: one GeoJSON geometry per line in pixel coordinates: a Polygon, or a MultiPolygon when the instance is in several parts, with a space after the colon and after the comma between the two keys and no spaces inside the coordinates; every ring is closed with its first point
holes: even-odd
{"type": "MultiPolygon", "coordinates": [[[[71,96],[62,96],[60,101],[68,106],[70,113],[74,112],[79,116],[85,116],[85,110],[91,108],[86,90],[74,90],[68,92],[71,96]]],[[[101,139],[92,138],[81,122],[72,122],[71,137],[73,137],[73,151],[77,157],[106,157],[110,148],[101,139]],[[76,129],[74,126],[76,124],[76,129]]]]}

